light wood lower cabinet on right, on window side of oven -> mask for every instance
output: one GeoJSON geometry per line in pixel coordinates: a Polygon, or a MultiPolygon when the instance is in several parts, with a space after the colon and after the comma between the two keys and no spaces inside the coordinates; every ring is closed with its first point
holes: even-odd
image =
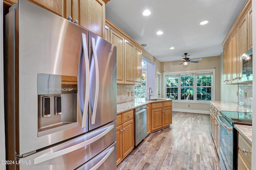
{"type": "Polygon", "coordinates": [[[220,123],[217,119],[217,109],[210,105],[210,130],[217,153],[220,154],[220,123]]]}

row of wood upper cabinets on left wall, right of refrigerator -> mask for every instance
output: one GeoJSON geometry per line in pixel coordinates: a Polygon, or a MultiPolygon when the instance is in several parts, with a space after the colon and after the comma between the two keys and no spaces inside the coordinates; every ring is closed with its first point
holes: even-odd
{"type": "Polygon", "coordinates": [[[141,84],[143,47],[106,19],[105,33],[108,33],[108,29],[109,41],[117,47],[117,83],[141,84]]]}

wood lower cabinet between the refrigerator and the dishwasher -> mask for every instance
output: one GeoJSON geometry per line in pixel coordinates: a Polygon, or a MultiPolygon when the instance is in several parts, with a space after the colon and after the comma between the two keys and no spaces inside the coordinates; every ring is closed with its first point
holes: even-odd
{"type": "Polygon", "coordinates": [[[116,117],[116,164],[119,164],[134,148],[133,109],[116,117]]]}

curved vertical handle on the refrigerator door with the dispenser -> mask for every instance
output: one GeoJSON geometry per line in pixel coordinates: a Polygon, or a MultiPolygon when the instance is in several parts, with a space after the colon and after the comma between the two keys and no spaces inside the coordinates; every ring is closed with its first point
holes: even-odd
{"type": "Polygon", "coordinates": [[[89,66],[89,56],[86,43],[86,35],[82,33],[82,42],[81,42],[81,51],[80,59],[78,65],[78,100],[81,111],[81,126],[84,128],[86,126],[86,118],[88,114],[88,105],[89,105],[89,88],[90,88],[90,66],[89,66]],[[84,60],[84,63],[83,63],[84,60]],[[85,67],[85,75],[84,70],[85,67]],[[85,87],[84,87],[84,78],[85,78],[85,87]],[[85,90],[85,94],[84,94],[85,90]],[[83,95],[84,94],[84,95],[83,95]]]}

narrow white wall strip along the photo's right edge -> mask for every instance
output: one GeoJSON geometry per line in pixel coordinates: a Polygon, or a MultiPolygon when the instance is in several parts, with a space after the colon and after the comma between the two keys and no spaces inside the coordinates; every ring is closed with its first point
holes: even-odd
{"type": "MultiPolygon", "coordinates": [[[[252,0],[252,48],[256,49],[256,0],[252,0]]],[[[256,56],[256,51],[254,50],[252,56],[256,56]]],[[[256,60],[253,60],[253,82],[252,84],[256,84],[256,60]]],[[[252,170],[256,170],[256,86],[252,87],[252,98],[253,98],[253,106],[252,106],[252,170]]]]}

